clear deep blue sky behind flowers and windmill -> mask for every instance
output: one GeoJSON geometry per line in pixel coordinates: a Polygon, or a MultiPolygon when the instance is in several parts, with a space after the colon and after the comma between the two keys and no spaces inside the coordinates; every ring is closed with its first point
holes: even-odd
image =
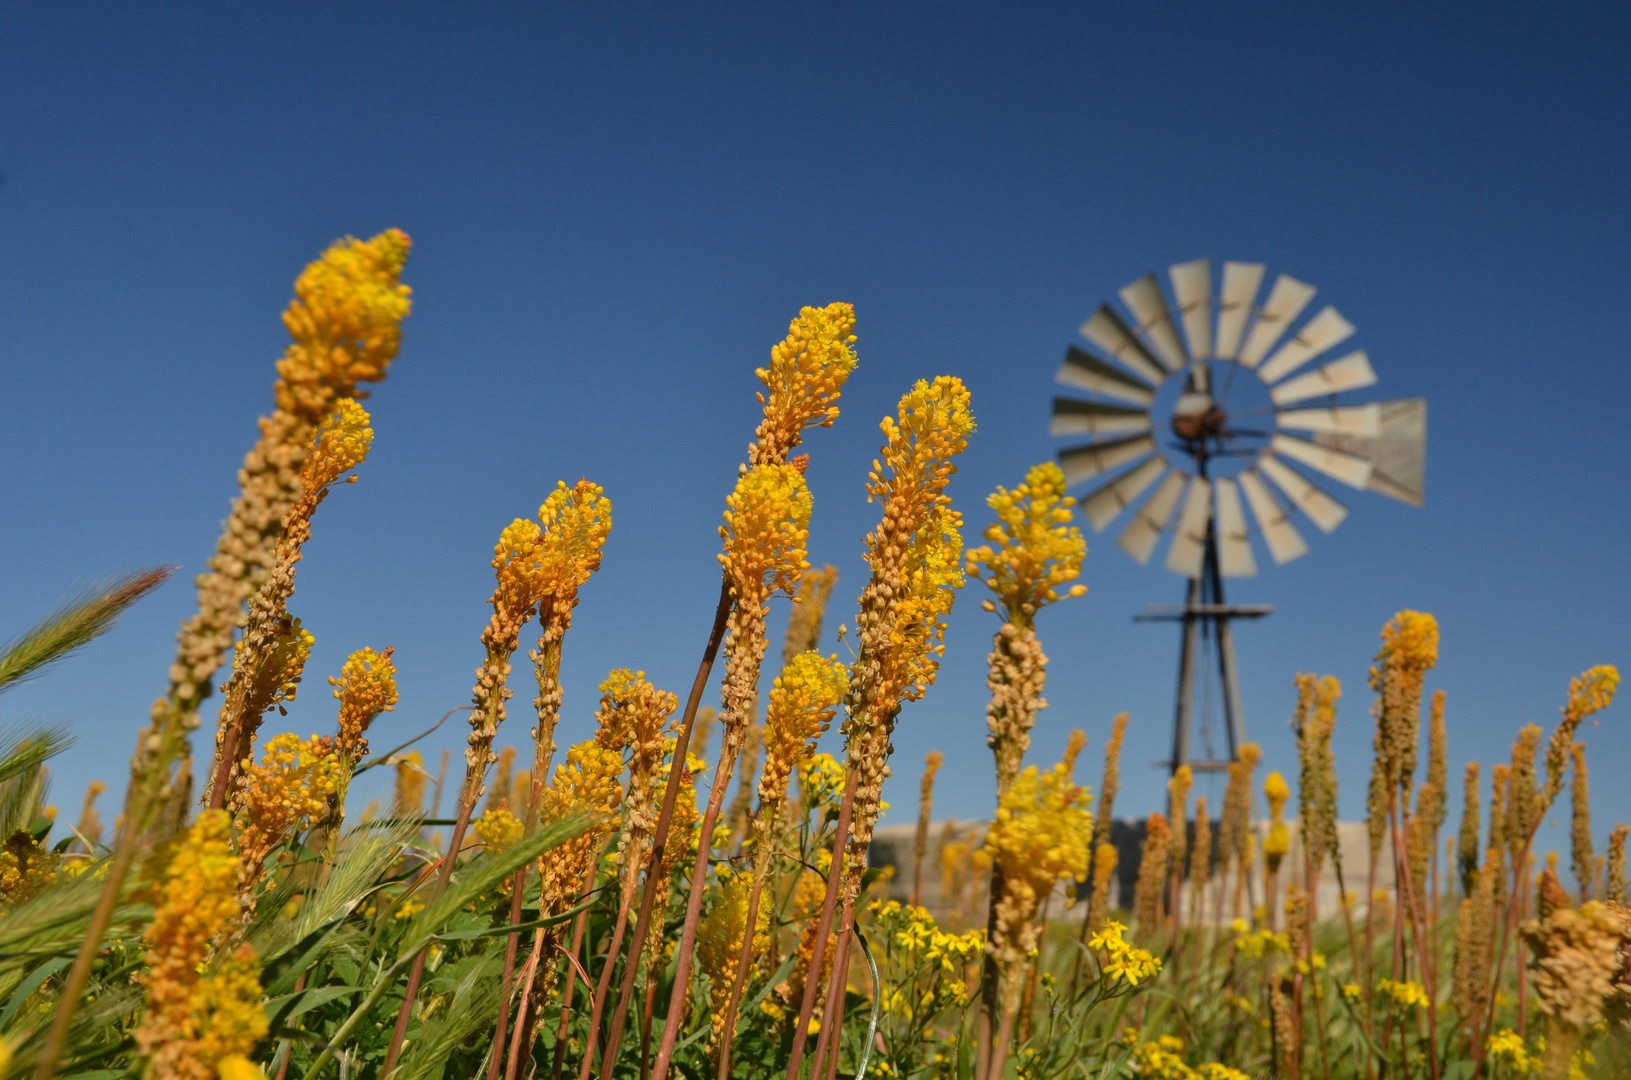
{"type": "MultiPolygon", "coordinates": [[[[184,569],[0,711],[72,719],[67,812],[93,777],[122,786],[184,579],[269,408],[290,282],[334,237],[398,225],[414,315],[362,483],[325,504],[300,566],[318,646],[294,729],[328,729],[325,677],[364,644],[401,669],[377,746],[466,702],[499,529],[581,475],[617,524],[566,643],[563,736],[589,733],[610,667],[683,693],[752,370],[799,305],[840,299],[861,367],[807,444],[811,556],[842,571],[829,625],[850,618],[877,419],[912,380],[972,388],[953,494],[977,529],[992,486],[1054,450],[1076,325],[1210,256],[1319,285],[1378,393],[1430,403],[1422,509],[1349,493],[1334,535],[1305,530],[1308,558],[1233,586],[1279,609],[1238,633],[1251,734],[1293,768],[1292,675],[1339,675],[1342,809],[1362,812],[1365,666],[1416,607],[1443,625],[1429,687],[1448,692],[1452,768],[1487,765],[1554,723],[1571,675],[1631,664],[1628,55],[1618,2],[7,5],[0,633],[77,582],[184,569]]],[[[1090,545],[1091,594],[1041,620],[1034,759],[1081,726],[1096,786],[1127,710],[1117,808],[1147,812],[1178,643],[1130,615],[1181,581],[1109,533],[1090,545]]],[[[939,811],[990,809],[979,599],[902,715],[897,819],[936,747],[939,811]]],[[[501,742],[525,742],[530,697],[522,674],[501,742]]],[[[1598,843],[1631,819],[1631,708],[1602,721],[1598,843]]]]}

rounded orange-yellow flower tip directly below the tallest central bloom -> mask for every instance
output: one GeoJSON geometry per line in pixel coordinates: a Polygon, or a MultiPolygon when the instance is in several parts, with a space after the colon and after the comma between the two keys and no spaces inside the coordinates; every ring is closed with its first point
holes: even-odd
{"type": "Polygon", "coordinates": [[[806,563],[811,493],[793,465],[755,465],[742,473],[726,498],[724,551],[737,599],[763,602],[781,591],[793,595],[806,563]]]}

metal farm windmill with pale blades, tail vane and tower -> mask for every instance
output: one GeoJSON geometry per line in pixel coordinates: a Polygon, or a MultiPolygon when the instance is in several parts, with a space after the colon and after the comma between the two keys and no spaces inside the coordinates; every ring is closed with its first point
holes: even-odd
{"type": "Polygon", "coordinates": [[[1169,532],[1166,568],[1189,579],[1182,605],[1137,617],[1182,625],[1165,762],[1173,772],[1227,768],[1246,737],[1230,623],[1274,610],[1223,597],[1225,578],[1258,573],[1246,507],[1269,558],[1284,564],[1308,553],[1293,511],[1326,533],[1347,517],[1321,485],[1422,501],[1427,403],[1339,403],[1377,383],[1364,351],[1324,359],[1354,325],[1329,305],[1297,325],[1315,287],[1280,274],[1259,299],[1262,279],[1262,263],[1223,263],[1213,294],[1207,259],[1179,263],[1168,269],[1168,302],[1147,274],[1117,294],[1125,313],[1103,303],[1081,325],[1091,349],[1070,346],[1055,375],[1090,395],[1054,398],[1050,424],[1054,436],[1090,437],[1059,452],[1068,486],[1098,483],[1081,498],[1083,517],[1104,532],[1130,511],[1116,543],[1140,564],[1169,532]],[[1213,760],[1209,747],[1205,760],[1191,760],[1196,669],[1213,646],[1228,759],[1213,760]]]}

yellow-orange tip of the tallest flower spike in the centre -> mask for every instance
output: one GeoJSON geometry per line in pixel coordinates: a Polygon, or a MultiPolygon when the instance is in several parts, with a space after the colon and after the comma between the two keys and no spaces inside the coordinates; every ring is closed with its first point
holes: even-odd
{"type": "Polygon", "coordinates": [[[758,400],[765,419],[754,432],[749,465],[780,465],[806,427],[832,427],[838,395],[855,370],[855,305],[806,307],[788,336],[770,349],[770,367],[754,374],[765,383],[758,400]],[[768,396],[767,396],[768,393],[768,396]]]}

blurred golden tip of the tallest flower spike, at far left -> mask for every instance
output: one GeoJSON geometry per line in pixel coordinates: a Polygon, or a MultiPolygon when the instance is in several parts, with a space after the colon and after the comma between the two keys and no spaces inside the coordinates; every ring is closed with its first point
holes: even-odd
{"type": "Polygon", "coordinates": [[[338,240],[295,279],[284,312],[294,341],[277,361],[277,408],[315,419],[336,396],[365,396],[357,383],[385,378],[401,343],[409,289],[408,233],[338,240]]]}

